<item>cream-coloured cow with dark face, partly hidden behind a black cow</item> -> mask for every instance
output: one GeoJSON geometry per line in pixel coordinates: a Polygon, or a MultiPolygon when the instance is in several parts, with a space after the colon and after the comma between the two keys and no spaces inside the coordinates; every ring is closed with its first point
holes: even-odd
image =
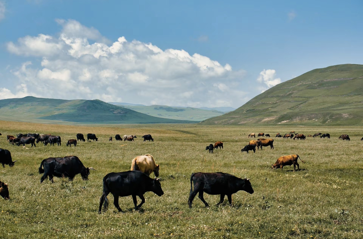
{"type": "Polygon", "coordinates": [[[132,159],[131,171],[140,171],[150,176],[154,172],[155,177],[159,177],[159,165],[155,163],[154,157],[150,154],[145,154],[132,159]]]}

